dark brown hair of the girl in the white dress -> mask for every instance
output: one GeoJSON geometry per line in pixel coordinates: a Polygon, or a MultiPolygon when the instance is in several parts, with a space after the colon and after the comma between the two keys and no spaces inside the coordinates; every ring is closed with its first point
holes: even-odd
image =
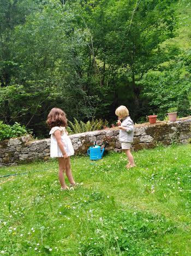
{"type": "Polygon", "coordinates": [[[49,128],[52,128],[55,126],[66,127],[67,126],[67,118],[65,116],[64,111],[54,107],[53,109],[51,109],[49,115],[47,116],[46,123],[49,128]]]}

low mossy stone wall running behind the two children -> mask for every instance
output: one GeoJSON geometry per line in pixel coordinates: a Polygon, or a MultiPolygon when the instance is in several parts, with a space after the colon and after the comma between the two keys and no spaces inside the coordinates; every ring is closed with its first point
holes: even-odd
{"type": "MultiPolygon", "coordinates": [[[[134,150],[150,149],[158,143],[170,145],[173,142],[188,143],[191,138],[191,117],[176,122],[157,122],[156,124],[136,124],[134,129],[134,150]]],[[[70,135],[75,153],[86,153],[89,146],[96,141],[106,150],[121,151],[118,140],[118,128],[98,130],[70,135]]],[[[0,167],[13,166],[17,163],[31,162],[35,159],[47,160],[50,156],[50,139],[32,140],[30,135],[0,142],[0,167]]]]}

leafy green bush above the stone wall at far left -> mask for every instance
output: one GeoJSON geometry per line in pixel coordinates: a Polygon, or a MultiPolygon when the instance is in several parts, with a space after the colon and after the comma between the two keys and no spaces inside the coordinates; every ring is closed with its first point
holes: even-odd
{"type": "Polygon", "coordinates": [[[10,139],[26,135],[27,129],[25,126],[21,126],[20,123],[15,122],[13,126],[0,121],[0,140],[10,139]]]}

